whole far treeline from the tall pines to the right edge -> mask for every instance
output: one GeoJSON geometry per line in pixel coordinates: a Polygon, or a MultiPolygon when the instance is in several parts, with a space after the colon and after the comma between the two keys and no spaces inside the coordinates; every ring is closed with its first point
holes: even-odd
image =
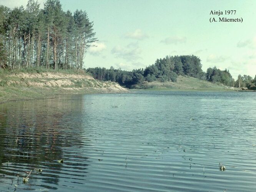
{"type": "Polygon", "coordinates": [[[115,81],[119,84],[131,87],[143,81],[152,82],[160,80],[162,82],[177,80],[178,75],[187,75],[198,79],[210,81],[212,83],[222,83],[226,86],[252,88],[256,85],[256,75],[253,79],[249,75],[238,76],[235,81],[228,70],[221,71],[214,68],[208,68],[206,73],[202,70],[201,60],[194,55],[166,56],[163,59],[157,59],[155,64],[145,69],[124,71],[121,69],[106,68],[88,68],[93,78],[101,81],[115,81]]]}

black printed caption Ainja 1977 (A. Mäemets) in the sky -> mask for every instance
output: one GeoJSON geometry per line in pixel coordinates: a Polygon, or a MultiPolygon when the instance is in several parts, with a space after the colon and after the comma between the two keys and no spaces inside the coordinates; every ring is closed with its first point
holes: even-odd
{"type": "Polygon", "coordinates": [[[210,23],[215,23],[215,22],[243,22],[242,17],[235,17],[236,15],[236,10],[211,10],[210,15],[213,15],[213,17],[210,17],[209,21],[210,23]],[[219,17],[219,16],[224,16],[224,17],[219,17]],[[218,16],[218,17],[217,17],[218,16]]]}

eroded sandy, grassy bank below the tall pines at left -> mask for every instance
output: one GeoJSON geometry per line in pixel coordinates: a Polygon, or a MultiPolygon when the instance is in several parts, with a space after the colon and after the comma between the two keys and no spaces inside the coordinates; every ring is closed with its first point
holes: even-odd
{"type": "Polygon", "coordinates": [[[0,103],[54,98],[64,94],[119,92],[127,90],[117,83],[96,81],[84,71],[0,70],[0,103]]]}

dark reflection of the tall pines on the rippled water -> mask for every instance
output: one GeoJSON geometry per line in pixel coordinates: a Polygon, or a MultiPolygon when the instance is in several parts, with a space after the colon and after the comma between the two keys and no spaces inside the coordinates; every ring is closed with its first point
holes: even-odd
{"type": "Polygon", "coordinates": [[[78,98],[1,106],[0,181],[5,187],[58,189],[61,182],[69,187],[68,183],[83,184],[89,159],[83,155],[84,147],[90,146],[90,140],[81,124],[82,106],[83,99],[78,98]],[[60,159],[65,163],[58,163],[60,159]],[[33,169],[43,172],[33,171],[23,185],[25,172],[33,169]]]}

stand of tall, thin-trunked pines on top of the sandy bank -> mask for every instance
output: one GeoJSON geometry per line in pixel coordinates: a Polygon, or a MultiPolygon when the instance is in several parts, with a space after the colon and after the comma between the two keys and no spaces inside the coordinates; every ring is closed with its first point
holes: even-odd
{"type": "Polygon", "coordinates": [[[96,41],[87,13],[64,12],[59,0],[40,9],[0,5],[0,68],[40,67],[82,69],[85,51],[96,41]]]}

